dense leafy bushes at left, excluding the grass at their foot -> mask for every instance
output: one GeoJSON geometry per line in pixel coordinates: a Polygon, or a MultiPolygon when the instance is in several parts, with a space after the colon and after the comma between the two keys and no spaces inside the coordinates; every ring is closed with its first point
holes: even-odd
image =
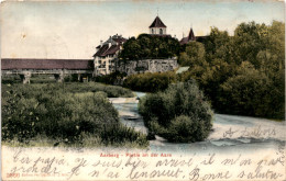
{"type": "Polygon", "coordinates": [[[81,132],[98,133],[103,124],[119,123],[117,111],[101,93],[80,98],[61,90],[44,93],[40,89],[34,98],[25,98],[21,91],[11,90],[9,94],[2,104],[3,139],[16,136],[23,142],[43,133],[75,142],[81,132]]]}

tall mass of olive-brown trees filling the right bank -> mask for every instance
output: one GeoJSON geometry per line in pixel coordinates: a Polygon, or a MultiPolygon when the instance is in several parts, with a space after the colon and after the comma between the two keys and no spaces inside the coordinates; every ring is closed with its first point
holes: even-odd
{"type": "Polygon", "coordinates": [[[179,80],[196,79],[217,112],[284,118],[284,23],[241,23],[234,36],[212,27],[204,45],[180,54],[190,68],[179,80]]]}

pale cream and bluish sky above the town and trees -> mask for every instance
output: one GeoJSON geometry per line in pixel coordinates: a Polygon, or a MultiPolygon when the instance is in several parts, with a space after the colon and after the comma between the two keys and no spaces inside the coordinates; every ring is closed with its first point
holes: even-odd
{"type": "Polygon", "coordinates": [[[284,22],[276,0],[145,0],[1,3],[1,58],[91,59],[100,41],[148,33],[157,13],[167,34],[208,35],[211,26],[231,35],[238,24],[284,22]]]}

